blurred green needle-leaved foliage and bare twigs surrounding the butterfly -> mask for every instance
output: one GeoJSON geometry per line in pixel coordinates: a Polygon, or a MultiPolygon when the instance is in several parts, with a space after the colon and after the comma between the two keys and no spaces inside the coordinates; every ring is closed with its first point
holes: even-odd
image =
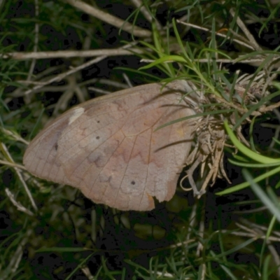
{"type": "MultiPolygon", "coordinates": [[[[79,3],[0,3],[0,279],[279,279],[278,165],[255,155],[280,158],[279,111],[262,110],[279,102],[280,4],[79,3]],[[258,102],[237,98],[247,115],[228,110],[232,130],[255,154],[235,154],[228,139],[224,169],[232,183],[217,179],[200,200],[178,188],[151,212],[121,212],[22,166],[28,142],[48,121],[128,81],[184,78],[221,98],[205,108],[224,116],[218,104],[244,74],[251,76],[242,90],[255,86],[258,102]]],[[[194,176],[203,183],[199,171],[194,176]]]]}

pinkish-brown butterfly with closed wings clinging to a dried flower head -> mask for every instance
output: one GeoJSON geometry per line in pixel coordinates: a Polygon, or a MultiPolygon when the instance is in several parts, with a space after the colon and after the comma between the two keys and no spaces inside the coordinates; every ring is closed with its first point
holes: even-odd
{"type": "Polygon", "coordinates": [[[120,210],[148,211],[170,200],[190,152],[195,125],[182,94],[188,84],[153,83],[80,104],[59,116],[29,144],[31,174],[81,190],[120,210]]]}

